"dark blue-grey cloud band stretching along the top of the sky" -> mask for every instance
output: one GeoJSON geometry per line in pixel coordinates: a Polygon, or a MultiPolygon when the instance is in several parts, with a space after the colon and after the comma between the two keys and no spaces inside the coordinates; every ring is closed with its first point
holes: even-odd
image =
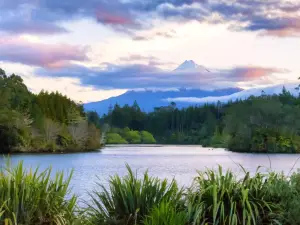
{"type": "MultiPolygon", "coordinates": [[[[52,34],[66,32],[62,21],[93,18],[135,40],[153,28],[155,19],[201,23],[233,23],[236,31],[256,31],[278,37],[298,36],[299,1],[285,0],[10,0],[0,2],[0,30],[15,33],[52,34]],[[211,16],[219,15],[217,21],[211,16]],[[20,20],[22,18],[22,20],[20,20]],[[22,22],[24,21],[24,22],[22,22]]],[[[155,36],[155,35],[154,35],[155,36]]],[[[156,36],[171,37],[168,33],[156,36]]],[[[150,37],[152,38],[152,37],[150,37]]]]}

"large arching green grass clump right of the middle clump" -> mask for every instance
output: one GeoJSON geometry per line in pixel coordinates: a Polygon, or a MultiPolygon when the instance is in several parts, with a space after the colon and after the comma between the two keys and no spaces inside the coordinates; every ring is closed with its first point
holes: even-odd
{"type": "Polygon", "coordinates": [[[257,173],[237,179],[231,171],[199,172],[188,195],[188,204],[195,210],[193,223],[200,224],[271,224],[279,207],[266,200],[268,177],[257,173]],[[195,221],[196,219],[196,221],[195,221]]]}

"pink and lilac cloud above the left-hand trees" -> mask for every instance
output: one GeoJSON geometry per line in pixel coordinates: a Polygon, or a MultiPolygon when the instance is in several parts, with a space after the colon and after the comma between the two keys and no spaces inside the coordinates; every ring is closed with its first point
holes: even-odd
{"type": "Polygon", "coordinates": [[[31,66],[60,68],[71,61],[84,61],[86,47],[67,44],[43,44],[24,38],[0,37],[0,61],[15,62],[31,66]]]}

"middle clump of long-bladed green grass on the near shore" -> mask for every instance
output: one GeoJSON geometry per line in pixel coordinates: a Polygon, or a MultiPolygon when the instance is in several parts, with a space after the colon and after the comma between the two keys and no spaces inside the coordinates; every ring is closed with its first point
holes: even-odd
{"type": "Polygon", "coordinates": [[[148,172],[139,179],[127,165],[128,174],[115,175],[109,180],[109,189],[98,184],[101,190],[91,194],[88,215],[91,224],[140,224],[150,211],[162,202],[178,203],[182,192],[175,181],[152,178],[148,172]]]}

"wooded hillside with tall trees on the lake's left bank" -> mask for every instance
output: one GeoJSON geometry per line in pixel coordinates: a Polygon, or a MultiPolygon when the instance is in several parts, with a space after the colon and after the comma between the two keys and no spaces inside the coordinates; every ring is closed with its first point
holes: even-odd
{"type": "Polygon", "coordinates": [[[0,69],[0,152],[85,151],[100,147],[99,124],[56,93],[31,93],[0,69]]]}

